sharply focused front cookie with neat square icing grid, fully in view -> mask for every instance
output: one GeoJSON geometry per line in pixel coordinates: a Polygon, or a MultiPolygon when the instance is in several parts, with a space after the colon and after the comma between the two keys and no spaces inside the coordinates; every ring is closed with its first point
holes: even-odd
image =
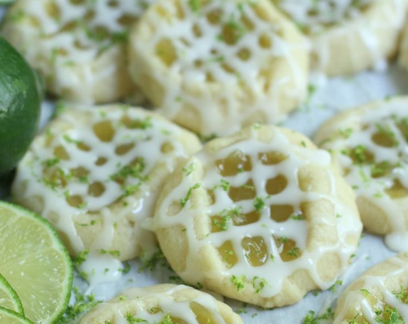
{"type": "Polygon", "coordinates": [[[153,228],[186,282],[275,307],[330,287],[362,225],[330,154],[302,134],[255,124],[173,172],[153,228]]]}

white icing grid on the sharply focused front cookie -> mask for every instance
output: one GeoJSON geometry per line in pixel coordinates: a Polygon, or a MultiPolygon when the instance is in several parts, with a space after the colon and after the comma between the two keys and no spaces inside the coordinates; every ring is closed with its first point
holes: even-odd
{"type": "MultiPolygon", "coordinates": [[[[323,150],[310,150],[298,145],[291,144],[288,139],[278,129],[275,132],[274,138],[264,143],[257,140],[257,130],[253,129],[251,138],[241,139],[235,143],[228,145],[217,152],[208,152],[205,149],[196,154],[188,163],[194,165],[203,165],[204,177],[200,180],[200,187],[195,190],[207,190],[219,185],[221,181],[227,181],[231,187],[241,187],[248,180],[252,179],[255,187],[256,196],[264,200],[265,208],[259,211],[259,220],[255,223],[250,223],[241,226],[235,226],[231,221],[227,222],[228,227],[225,230],[211,232],[211,229],[206,229],[207,234],[202,234],[203,237],[197,237],[197,229],[195,229],[194,218],[197,212],[210,216],[220,215],[225,209],[234,207],[241,208],[242,214],[249,213],[255,210],[254,199],[246,199],[233,202],[228,196],[228,192],[222,188],[217,188],[214,191],[215,203],[208,206],[200,206],[200,211],[192,208],[190,201],[175,215],[166,215],[169,206],[174,201],[179,201],[180,198],[186,196],[188,188],[195,185],[197,178],[195,175],[184,175],[180,185],[175,187],[161,205],[157,206],[154,217],[155,229],[167,228],[175,225],[182,225],[186,229],[188,240],[188,256],[186,258],[186,269],[182,273],[178,273],[186,282],[196,284],[197,281],[205,281],[206,278],[215,278],[222,276],[226,281],[230,281],[231,276],[237,278],[244,276],[247,283],[252,282],[255,288],[262,281],[263,288],[259,289],[262,297],[273,297],[277,295],[281,289],[285,278],[290,276],[298,269],[306,269],[311,278],[321,289],[327,289],[333,284],[335,278],[329,282],[322,280],[317,272],[317,260],[325,253],[335,253],[341,262],[341,269],[344,269],[350,256],[354,253],[356,246],[349,244],[347,238],[349,236],[359,236],[361,232],[361,223],[359,217],[353,211],[348,209],[344,203],[339,201],[335,189],[335,180],[333,174],[328,169],[331,159],[330,155],[323,150]],[[258,159],[260,152],[280,152],[286,156],[286,159],[276,165],[264,165],[258,159]],[[234,176],[222,177],[217,168],[215,161],[225,159],[231,153],[242,152],[251,157],[252,170],[244,171],[235,174],[234,176]],[[321,168],[328,170],[327,176],[330,182],[330,188],[327,194],[318,192],[305,192],[299,188],[298,172],[299,169],[306,165],[319,165],[321,168]],[[273,179],[278,175],[284,175],[287,179],[287,186],[278,194],[268,194],[266,192],[266,181],[273,179]],[[271,217],[270,205],[292,205],[294,207],[294,215],[301,214],[300,206],[303,202],[328,201],[333,204],[335,214],[330,218],[328,215],[321,215],[313,220],[313,224],[305,219],[295,220],[289,217],[283,222],[276,222],[271,217]],[[336,217],[341,215],[341,217],[336,217]],[[338,240],[333,245],[321,245],[316,249],[308,248],[308,229],[310,226],[318,224],[330,225],[336,228],[338,240]],[[299,254],[293,260],[286,262],[279,256],[279,247],[275,243],[275,238],[286,237],[296,242],[296,247],[299,248],[299,254]],[[252,266],[245,256],[245,250],[242,247],[244,238],[262,237],[266,245],[266,261],[260,266],[252,266]],[[208,246],[215,248],[220,247],[224,242],[231,241],[233,251],[237,258],[236,264],[231,268],[227,266],[217,273],[218,270],[203,269],[202,267],[202,249],[208,246]],[[271,259],[273,256],[273,259],[271,259]]],[[[186,164],[185,167],[187,167],[186,164]]],[[[204,194],[204,193],[202,193],[204,194]]],[[[208,219],[211,224],[211,220],[208,219]]],[[[203,282],[204,282],[203,281],[203,282]]],[[[259,288],[259,287],[258,287],[259,288]]],[[[219,291],[223,293],[223,291],[219,291]]]]}

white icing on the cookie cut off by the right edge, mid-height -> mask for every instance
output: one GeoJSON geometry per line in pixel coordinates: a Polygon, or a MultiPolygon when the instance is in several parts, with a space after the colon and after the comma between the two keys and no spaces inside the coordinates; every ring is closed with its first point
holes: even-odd
{"type": "Polygon", "coordinates": [[[408,110],[403,101],[396,99],[350,114],[341,122],[333,138],[322,144],[332,152],[343,170],[349,170],[346,180],[355,189],[357,197],[368,199],[386,214],[391,229],[385,242],[395,251],[408,249],[408,244],[404,244],[408,235],[408,145],[407,134],[401,128],[408,130],[408,110]],[[394,144],[385,146],[374,141],[373,137],[379,133],[390,134],[389,139],[394,144]],[[373,161],[353,161],[350,154],[345,154],[359,145],[373,154],[373,161]],[[386,165],[381,167],[381,163],[386,165]],[[373,176],[373,166],[376,165],[379,166],[378,174],[373,176]],[[402,197],[392,197],[387,192],[396,182],[406,190],[402,197]]]}

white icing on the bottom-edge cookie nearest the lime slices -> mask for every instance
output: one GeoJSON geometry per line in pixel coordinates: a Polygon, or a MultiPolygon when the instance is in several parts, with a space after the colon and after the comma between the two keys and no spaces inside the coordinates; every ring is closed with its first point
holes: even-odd
{"type": "MultiPolygon", "coordinates": [[[[151,324],[162,323],[161,321],[166,316],[177,318],[177,320],[182,320],[186,324],[227,324],[219,311],[217,300],[211,295],[204,292],[197,292],[192,295],[194,289],[184,285],[176,286],[169,284],[167,286],[169,286],[168,289],[160,289],[160,291],[157,289],[157,291],[153,290],[159,286],[144,289],[128,289],[119,295],[119,298],[122,298],[123,302],[116,297],[110,302],[98,305],[97,309],[103,310],[104,307],[109,308],[110,304],[117,305],[117,307],[114,308],[114,317],[113,321],[110,322],[111,324],[129,324],[126,318],[129,315],[136,321],[151,324]],[[129,302],[131,302],[131,309],[124,311],[124,307],[121,307],[120,304],[129,304],[129,302]],[[195,312],[191,306],[192,302],[202,306],[205,309],[204,312],[197,310],[195,312]],[[146,309],[146,304],[154,304],[155,306],[146,309]]],[[[232,310],[230,311],[233,313],[232,310]]],[[[235,314],[233,314],[233,316],[238,317],[235,314]]],[[[84,320],[86,320],[86,315],[84,320]]],[[[81,321],[79,323],[81,323],[81,321]]],[[[236,324],[239,323],[241,323],[241,321],[236,322],[236,324]]]]}

